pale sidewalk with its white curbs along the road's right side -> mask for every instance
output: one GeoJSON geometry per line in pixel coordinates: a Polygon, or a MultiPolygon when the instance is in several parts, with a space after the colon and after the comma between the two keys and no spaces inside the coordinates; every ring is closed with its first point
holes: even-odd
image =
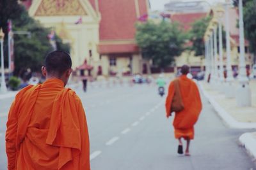
{"type": "MultiPolygon", "coordinates": [[[[238,83],[235,83],[236,86],[238,83]]],[[[236,106],[236,98],[227,99],[223,92],[213,90],[211,84],[201,81],[198,83],[204,96],[212,104],[230,128],[256,129],[256,81],[250,81],[252,90],[252,107],[236,106]]],[[[239,141],[248,153],[256,159],[256,132],[248,132],[240,136],[239,141]]]]}

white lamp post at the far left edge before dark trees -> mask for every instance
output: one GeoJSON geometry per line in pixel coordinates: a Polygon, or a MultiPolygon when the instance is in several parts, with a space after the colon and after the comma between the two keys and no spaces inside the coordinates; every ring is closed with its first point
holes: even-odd
{"type": "Polygon", "coordinates": [[[0,44],[1,44],[1,93],[7,92],[5,77],[4,77],[4,32],[0,29],[0,44]]]}

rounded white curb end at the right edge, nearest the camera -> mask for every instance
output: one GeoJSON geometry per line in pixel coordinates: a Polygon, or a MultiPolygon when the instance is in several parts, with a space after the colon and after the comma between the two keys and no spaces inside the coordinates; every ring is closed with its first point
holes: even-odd
{"type": "Polygon", "coordinates": [[[246,148],[248,153],[255,159],[256,158],[256,138],[252,133],[244,133],[239,137],[240,143],[246,148]]]}

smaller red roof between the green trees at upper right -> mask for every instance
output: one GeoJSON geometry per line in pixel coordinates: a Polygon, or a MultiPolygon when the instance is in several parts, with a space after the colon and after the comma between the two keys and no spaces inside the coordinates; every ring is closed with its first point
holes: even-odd
{"type": "Polygon", "coordinates": [[[179,13],[171,15],[171,20],[179,22],[185,31],[189,31],[196,20],[206,16],[207,13],[179,13]]]}

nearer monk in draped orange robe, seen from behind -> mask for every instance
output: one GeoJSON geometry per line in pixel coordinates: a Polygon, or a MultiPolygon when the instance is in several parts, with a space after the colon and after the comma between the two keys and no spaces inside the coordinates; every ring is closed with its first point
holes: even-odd
{"type": "Polygon", "coordinates": [[[81,100],[66,89],[68,53],[54,51],[42,67],[46,81],[15,97],[8,115],[8,170],[89,170],[90,146],[81,100]]]}

